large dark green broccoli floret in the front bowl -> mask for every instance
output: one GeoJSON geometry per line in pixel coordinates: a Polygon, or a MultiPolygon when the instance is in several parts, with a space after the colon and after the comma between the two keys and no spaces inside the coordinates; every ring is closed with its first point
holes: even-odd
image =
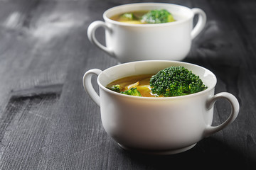
{"type": "Polygon", "coordinates": [[[162,69],[149,83],[152,94],[164,97],[194,94],[208,88],[196,74],[181,66],[162,69]]]}

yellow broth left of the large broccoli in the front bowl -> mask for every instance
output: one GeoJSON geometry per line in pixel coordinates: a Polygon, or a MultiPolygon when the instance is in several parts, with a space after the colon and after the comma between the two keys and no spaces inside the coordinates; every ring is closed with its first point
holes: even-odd
{"type": "Polygon", "coordinates": [[[117,79],[112,81],[110,84],[107,84],[107,88],[110,88],[113,85],[119,84],[121,86],[121,91],[127,91],[132,87],[136,87],[139,93],[143,97],[155,97],[151,94],[151,89],[149,87],[149,80],[153,74],[142,74],[137,76],[124,77],[122,79],[117,79]],[[139,84],[137,83],[139,81],[139,84]],[[133,85],[134,86],[130,86],[133,85]]]}

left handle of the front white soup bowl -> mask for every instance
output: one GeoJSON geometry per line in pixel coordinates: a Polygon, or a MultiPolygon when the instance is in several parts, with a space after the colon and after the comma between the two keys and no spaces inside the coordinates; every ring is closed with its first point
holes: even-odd
{"type": "Polygon", "coordinates": [[[92,86],[92,75],[95,74],[99,76],[101,72],[102,70],[100,69],[90,69],[85,72],[84,76],[82,77],[82,85],[85,91],[90,96],[90,98],[92,98],[92,101],[94,101],[98,106],[100,106],[100,96],[92,86]]]}

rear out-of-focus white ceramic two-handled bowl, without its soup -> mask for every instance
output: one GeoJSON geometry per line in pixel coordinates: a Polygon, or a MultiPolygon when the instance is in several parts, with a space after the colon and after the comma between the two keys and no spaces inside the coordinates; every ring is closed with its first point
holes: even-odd
{"type": "Polygon", "coordinates": [[[135,3],[115,6],[103,13],[104,21],[94,21],[87,28],[92,44],[120,63],[138,60],[183,60],[191,50],[191,42],[206,25],[206,13],[200,8],[187,8],[168,3],[135,3]],[[113,21],[112,16],[152,9],[170,11],[177,21],[158,24],[132,24],[113,21]],[[198,22],[193,28],[193,18],[198,22]],[[95,36],[97,28],[105,28],[105,45],[95,36]]]}

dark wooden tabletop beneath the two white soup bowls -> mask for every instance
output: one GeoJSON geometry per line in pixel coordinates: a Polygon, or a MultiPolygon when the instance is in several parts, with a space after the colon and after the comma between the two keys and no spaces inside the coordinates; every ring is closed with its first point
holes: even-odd
{"type": "MultiPolygon", "coordinates": [[[[215,73],[215,93],[238,98],[234,123],[169,156],[127,152],[107,135],[82,75],[117,61],[89,42],[87,27],[107,8],[134,2],[141,1],[0,1],[0,169],[256,169],[254,0],[161,1],[206,11],[183,61],[215,73]]],[[[97,30],[102,42],[104,35],[97,30]]],[[[216,103],[213,125],[228,106],[216,103]]]]}

